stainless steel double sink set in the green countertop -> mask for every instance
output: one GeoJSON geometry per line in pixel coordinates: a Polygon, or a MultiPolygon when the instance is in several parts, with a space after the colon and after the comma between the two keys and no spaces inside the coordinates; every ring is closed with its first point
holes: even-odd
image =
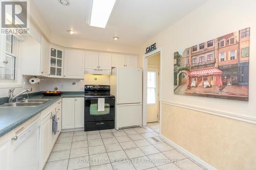
{"type": "Polygon", "coordinates": [[[5,103],[0,105],[0,107],[34,107],[40,106],[49,101],[49,99],[24,99],[16,102],[5,103]]]}

